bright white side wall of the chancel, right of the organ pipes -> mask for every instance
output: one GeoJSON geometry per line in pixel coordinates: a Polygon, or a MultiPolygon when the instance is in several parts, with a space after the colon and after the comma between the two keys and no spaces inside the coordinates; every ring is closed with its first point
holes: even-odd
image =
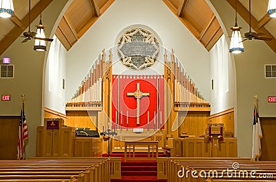
{"type": "Polygon", "coordinates": [[[210,91],[211,113],[216,114],[234,108],[235,86],[233,64],[228,52],[226,38],[223,35],[210,50],[210,91]]]}

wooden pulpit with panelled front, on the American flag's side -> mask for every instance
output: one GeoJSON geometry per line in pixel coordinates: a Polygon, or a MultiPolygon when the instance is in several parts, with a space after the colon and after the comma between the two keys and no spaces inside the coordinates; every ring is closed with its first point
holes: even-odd
{"type": "Polygon", "coordinates": [[[44,126],[37,127],[36,156],[101,156],[102,148],[99,133],[79,130],[76,136],[75,128],[64,125],[63,119],[44,119],[44,126]]]}

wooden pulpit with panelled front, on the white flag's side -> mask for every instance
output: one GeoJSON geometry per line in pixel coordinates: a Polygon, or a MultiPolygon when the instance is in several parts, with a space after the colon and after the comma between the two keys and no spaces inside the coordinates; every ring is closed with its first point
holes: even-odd
{"type": "Polygon", "coordinates": [[[237,139],[224,131],[223,123],[212,123],[199,137],[172,139],[171,156],[237,157],[237,139]]]}

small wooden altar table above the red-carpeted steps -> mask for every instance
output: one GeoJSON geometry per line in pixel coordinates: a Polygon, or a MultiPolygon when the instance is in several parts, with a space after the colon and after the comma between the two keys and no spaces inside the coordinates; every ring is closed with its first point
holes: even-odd
{"type": "Polygon", "coordinates": [[[148,157],[143,157],[142,159],[139,158],[139,160],[155,160],[154,158],[154,149],[155,149],[155,154],[156,157],[158,157],[158,142],[157,141],[125,141],[125,161],[127,160],[128,157],[128,146],[130,146],[130,150],[129,150],[129,157],[131,157],[131,146],[133,146],[133,156],[131,159],[128,160],[137,160],[137,158],[135,158],[135,146],[136,145],[140,145],[140,146],[144,146],[147,145],[148,146],[148,157]],[[150,146],[152,146],[152,157],[150,157],[150,146]],[[155,148],[154,148],[155,146],[155,148]]]}

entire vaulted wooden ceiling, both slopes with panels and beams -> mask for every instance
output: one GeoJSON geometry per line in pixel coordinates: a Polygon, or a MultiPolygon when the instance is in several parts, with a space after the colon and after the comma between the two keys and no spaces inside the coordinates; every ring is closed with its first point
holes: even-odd
{"type": "MultiPolygon", "coordinates": [[[[52,0],[41,1],[43,10],[52,2],[52,0]]],[[[70,50],[114,1],[73,0],[65,14],[63,14],[55,32],[64,47],[70,50]]],[[[210,50],[223,34],[215,14],[205,0],[162,1],[184,23],[184,26],[190,30],[206,50],[210,50]]],[[[225,1],[228,1],[230,6],[235,8],[236,0],[225,1]]],[[[31,22],[39,16],[39,2],[39,0],[32,0],[31,22]]],[[[266,16],[267,4],[268,0],[252,1],[252,27],[255,32],[263,32],[266,37],[273,37],[273,41],[266,41],[266,43],[276,52],[276,20],[266,16]]],[[[10,21],[0,19],[0,54],[28,28],[28,0],[14,1],[14,10],[17,16],[10,18],[10,21]]],[[[237,1],[237,12],[249,23],[248,0],[237,1]]],[[[244,32],[247,32],[247,30],[244,32]]]]}

